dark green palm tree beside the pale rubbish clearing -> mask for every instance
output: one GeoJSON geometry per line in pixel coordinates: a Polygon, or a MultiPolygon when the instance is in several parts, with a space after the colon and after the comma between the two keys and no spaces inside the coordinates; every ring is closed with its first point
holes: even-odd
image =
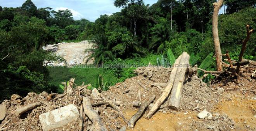
{"type": "Polygon", "coordinates": [[[104,64],[106,60],[114,59],[112,52],[107,49],[107,39],[104,34],[96,35],[92,42],[93,48],[85,50],[85,52],[92,52],[91,55],[85,57],[88,57],[86,64],[92,58],[94,58],[94,64],[104,64]]]}

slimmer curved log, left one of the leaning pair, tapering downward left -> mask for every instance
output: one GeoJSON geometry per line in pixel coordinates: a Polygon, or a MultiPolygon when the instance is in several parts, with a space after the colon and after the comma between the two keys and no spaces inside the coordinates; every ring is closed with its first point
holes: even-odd
{"type": "MultiPolygon", "coordinates": [[[[187,54],[187,53],[183,52],[183,54],[187,54]]],[[[149,119],[156,112],[156,110],[163,104],[164,100],[169,96],[169,94],[171,92],[171,88],[173,87],[173,82],[174,82],[176,72],[178,70],[178,67],[179,67],[179,64],[180,64],[180,59],[181,59],[182,55],[180,55],[178,57],[178,59],[175,60],[175,63],[174,63],[174,66],[173,66],[174,68],[171,71],[169,82],[167,83],[167,86],[164,89],[164,92],[162,93],[161,97],[159,97],[157,99],[156,103],[154,104],[154,106],[149,111],[149,114],[147,114],[147,116],[146,116],[147,119],[149,119]]]]}

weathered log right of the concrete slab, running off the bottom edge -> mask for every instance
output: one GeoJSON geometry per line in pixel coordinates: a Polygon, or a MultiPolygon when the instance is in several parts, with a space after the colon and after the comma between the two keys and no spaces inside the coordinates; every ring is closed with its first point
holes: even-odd
{"type": "Polygon", "coordinates": [[[107,131],[107,128],[102,123],[102,119],[100,118],[99,114],[93,110],[88,97],[83,97],[83,108],[86,116],[88,116],[93,123],[93,131],[107,131]]]}

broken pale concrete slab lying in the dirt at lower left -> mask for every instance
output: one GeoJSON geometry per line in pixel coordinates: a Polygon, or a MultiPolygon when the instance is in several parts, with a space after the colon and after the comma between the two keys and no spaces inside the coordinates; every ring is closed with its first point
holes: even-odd
{"type": "Polygon", "coordinates": [[[50,131],[75,121],[79,118],[78,109],[73,104],[43,113],[39,116],[43,131],[50,131]]]}

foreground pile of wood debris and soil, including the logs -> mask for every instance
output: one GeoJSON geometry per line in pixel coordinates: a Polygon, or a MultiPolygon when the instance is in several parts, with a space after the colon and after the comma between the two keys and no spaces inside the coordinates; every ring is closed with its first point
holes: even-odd
{"type": "MultiPolygon", "coordinates": [[[[188,60],[189,55],[184,52],[175,64],[184,65],[188,60]]],[[[179,116],[195,114],[195,117],[188,118],[191,119],[191,123],[184,123],[183,128],[180,129],[239,129],[227,114],[218,114],[214,110],[214,106],[221,101],[221,94],[228,89],[220,87],[226,87],[224,83],[230,85],[236,83],[223,82],[223,80],[208,86],[193,73],[196,69],[190,68],[189,71],[188,69],[189,67],[179,66],[138,68],[135,70],[138,76],[126,79],[110,87],[108,91],[102,92],[98,92],[97,89],[93,91],[86,89],[90,85],[76,86],[74,79],[71,79],[69,85],[65,85],[64,94],[28,93],[24,98],[14,94],[10,100],[5,100],[0,105],[0,131],[50,130],[51,127],[54,131],[125,131],[126,128],[133,129],[136,121],[142,117],[154,118],[156,112],[179,116]],[[76,109],[67,109],[64,113],[54,114],[55,110],[64,111],[63,107],[69,105],[75,106],[76,109]],[[125,112],[131,109],[137,112],[133,116],[127,116],[125,112]],[[47,116],[46,113],[50,115],[47,116]],[[76,119],[73,121],[66,119],[65,113],[70,113],[68,117],[76,119]],[[60,114],[64,116],[54,117],[60,114]],[[54,120],[47,123],[48,125],[55,125],[46,128],[45,123],[42,122],[48,119],[54,120]],[[61,124],[56,127],[56,123],[61,124]],[[62,125],[63,123],[66,124],[62,125]]],[[[242,76],[240,79],[247,77],[242,76]]],[[[252,86],[255,82],[255,79],[250,78],[247,84],[251,89],[243,86],[242,91],[248,90],[247,95],[255,95],[256,87],[252,86]]]]}

